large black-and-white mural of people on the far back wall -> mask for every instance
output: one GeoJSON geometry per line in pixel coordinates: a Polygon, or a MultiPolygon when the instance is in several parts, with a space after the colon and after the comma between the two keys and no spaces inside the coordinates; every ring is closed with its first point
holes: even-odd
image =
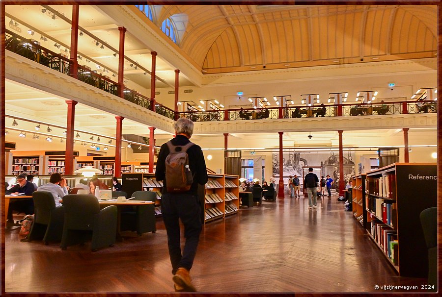
{"type": "MultiPolygon", "coordinates": [[[[355,163],[351,154],[344,159],[344,180],[347,183],[353,176],[356,175],[355,163]]],[[[273,173],[276,178],[279,178],[279,153],[273,153],[273,173]]],[[[339,187],[339,155],[335,152],[296,152],[285,151],[282,153],[282,171],[284,183],[290,175],[303,176],[303,167],[305,166],[320,166],[322,175],[329,174],[335,181],[332,188],[339,187]]],[[[318,176],[321,178],[321,176],[318,176]]],[[[300,178],[302,179],[302,178],[300,178]]],[[[303,181],[301,180],[301,183],[303,181]]]]}

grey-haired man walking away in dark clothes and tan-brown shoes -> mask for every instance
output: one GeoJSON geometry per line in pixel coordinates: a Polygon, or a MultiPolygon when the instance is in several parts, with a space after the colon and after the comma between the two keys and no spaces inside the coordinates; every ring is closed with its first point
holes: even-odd
{"type": "Polygon", "coordinates": [[[193,122],[186,118],[179,118],[174,128],[176,137],[161,146],[155,177],[157,180],[164,181],[161,212],[166,226],[175,292],[196,292],[189,272],[192,269],[201,233],[201,206],[197,189],[198,184],[207,183],[206,163],[201,148],[189,141],[193,134],[193,122]],[[188,191],[172,193],[170,189],[167,189],[167,183],[171,184],[175,181],[166,179],[166,157],[171,149],[180,152],[185,151],[186,148],[189,161],[186,170],[192,173],[193,183],[188,191]],[[184,225],[186,238],[183,252],[181,252],[180,244],[180,220],[184,225]]]}

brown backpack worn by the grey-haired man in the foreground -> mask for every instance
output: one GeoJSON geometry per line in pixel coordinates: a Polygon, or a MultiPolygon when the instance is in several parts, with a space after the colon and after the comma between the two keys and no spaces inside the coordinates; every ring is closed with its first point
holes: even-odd
{"type": "Polygon", "coordinates": [[[194,144],[189,142],[185,146],[174,146],[168,141],[169,154],[166,157],[166,187],[169,193],[181,193],[189,191],[193,176],[189,168],[189,156],[187,150],[194,144]]]}

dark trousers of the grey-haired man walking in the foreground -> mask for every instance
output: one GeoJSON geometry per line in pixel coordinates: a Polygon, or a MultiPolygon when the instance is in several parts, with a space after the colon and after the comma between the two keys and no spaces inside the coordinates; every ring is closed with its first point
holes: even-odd
{"type": "Polygon", "coordinates": [[[166,226],[172,274],[180,267],[191,270],[202,225],[198,198],[190,194],[165,193],[161,198],[161,213],[166,226]],[[180,244],[180,220],[184,225],[186,238],[183,253],[180,244]]]}

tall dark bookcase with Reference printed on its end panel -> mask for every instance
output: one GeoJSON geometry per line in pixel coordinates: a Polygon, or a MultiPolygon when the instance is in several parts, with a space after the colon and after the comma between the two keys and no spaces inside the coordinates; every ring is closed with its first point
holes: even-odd
{"type": "Polygon", "coordinates": [[[427,277],[422,210],[437,202],[437,166],[394,163],[366,175],[368,235],[400,276],[427,277]]]}

